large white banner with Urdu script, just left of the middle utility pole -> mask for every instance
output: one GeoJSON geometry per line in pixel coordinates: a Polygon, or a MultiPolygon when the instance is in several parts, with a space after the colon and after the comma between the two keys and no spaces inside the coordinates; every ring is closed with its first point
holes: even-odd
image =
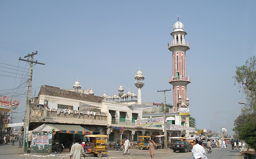
{"type": "Polygon", "coordinates": [[[164,124],[164,117],[143,118],[135,120],[135,127],[152,126],[164,124]]]}

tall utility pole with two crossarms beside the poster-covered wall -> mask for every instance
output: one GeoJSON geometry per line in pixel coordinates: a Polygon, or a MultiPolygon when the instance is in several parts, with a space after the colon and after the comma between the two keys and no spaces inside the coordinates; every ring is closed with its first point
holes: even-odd
{"type": "Polygon", "coordinates": [[[27,56],[24,56],[24,58],[30,57],[30,60],[24,60],[19,58],[21,61],[30,62],[29,66],[29,75],[28,75],[28,92],[27,92],[27,101],[26,101],[26,111],[25,111],[25,121],[24,121],[24,133],[23,133],[23,149],[22,154],[28,153],[28,126],[29,126],[29,115],[30,115],[30,99],[31,99],[31,87],[32,87],[32,72],[33,72],[33,63],[45,65],[44,63],[40,63],[34,60],[34,55],[37,54],[37,51],[32,54],[28,54],[27,56]]]}

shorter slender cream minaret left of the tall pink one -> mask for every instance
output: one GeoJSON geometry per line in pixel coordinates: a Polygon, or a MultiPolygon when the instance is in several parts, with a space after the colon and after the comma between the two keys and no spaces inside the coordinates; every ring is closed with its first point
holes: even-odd
{"type": "Polygon", "coordinates": [[[144,76],[142,74],[142,72],[139,71],[137,72],[137,74],[135,75],[135,83],[134,85],[138,88],[138,97],[137,97],[137,103],[141,104],[141,88],[144,86],[144,76]]]}

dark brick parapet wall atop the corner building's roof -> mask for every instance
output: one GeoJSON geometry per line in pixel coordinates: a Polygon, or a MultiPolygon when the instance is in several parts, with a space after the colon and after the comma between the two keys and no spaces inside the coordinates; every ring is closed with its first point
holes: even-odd
{"type": "Polygon", "coordinates": [[[103,97],[84,94],[84,93],[76,93],[73,91],[66,91],[66,90],[60,89],[59,87],[53,87],[49,85],[41,86],[38,96],[40,95],[50,95],[55,97],[84,100],[84,101],[95,102],[95,103],[101,103],[103,100],[103,97]]]}

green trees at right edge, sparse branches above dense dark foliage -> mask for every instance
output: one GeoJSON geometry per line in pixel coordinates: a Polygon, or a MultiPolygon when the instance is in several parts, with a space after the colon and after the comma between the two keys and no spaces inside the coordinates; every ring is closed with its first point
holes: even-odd
{"type": "Polygon", "coordinates": [[[246,60],[245,65],[236,67],[233,77],[239,89],[244,90],[247,103],[234,121],[233,131],[249,147],[256,149],[256,57],[246,60]]]}

